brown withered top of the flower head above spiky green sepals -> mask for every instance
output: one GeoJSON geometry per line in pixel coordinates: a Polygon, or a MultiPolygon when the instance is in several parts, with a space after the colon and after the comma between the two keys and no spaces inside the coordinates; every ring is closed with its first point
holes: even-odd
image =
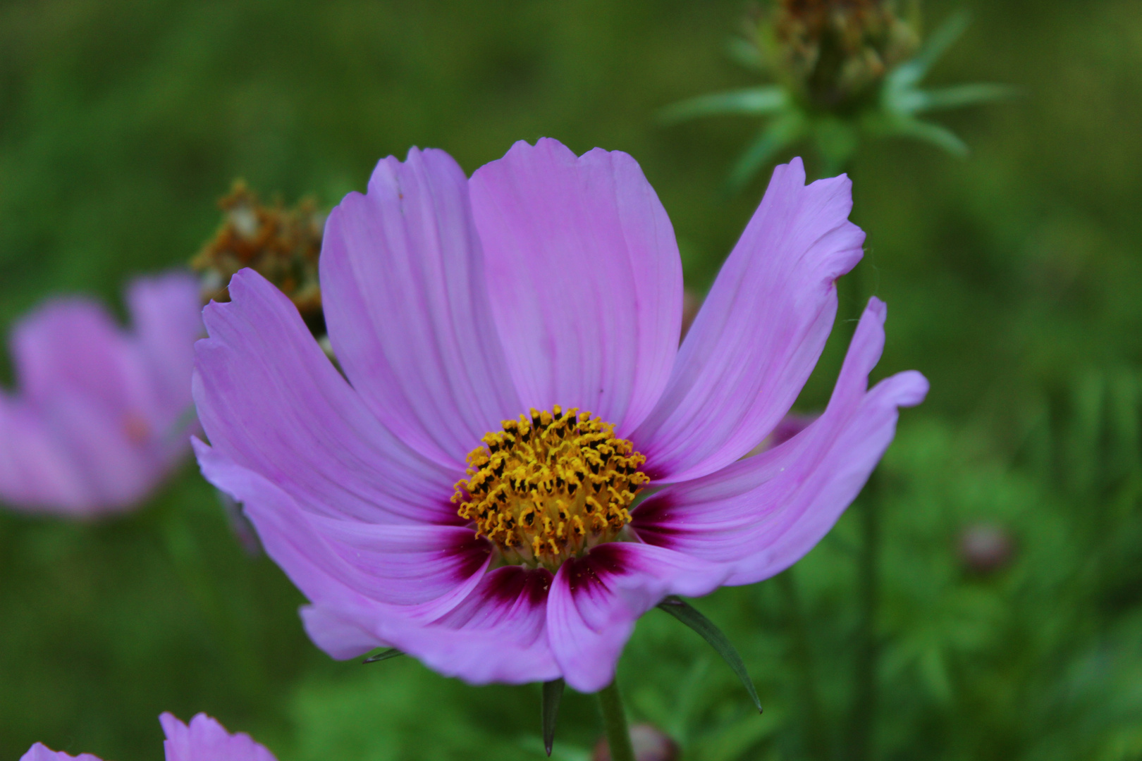
{"type": "Polygon", "coordinates": [[[919,47],[916,25],[901,18],[896,5],[777,0],[774,10],[762,17],[759,43],[770,48],[771,65],[810,105],[827,111],[856,107],[919,47]]]}

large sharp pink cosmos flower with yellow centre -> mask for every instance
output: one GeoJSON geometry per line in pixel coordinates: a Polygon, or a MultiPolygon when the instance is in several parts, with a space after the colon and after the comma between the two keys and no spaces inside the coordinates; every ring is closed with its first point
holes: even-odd
{"type": "Polygon", "coordinates": [[[927,390],[916,372],[867,389],[874,299],[823,414],[742,459],[861,257],[850,187],[779,167],[679,348],[674,232],[627,154],[517,143],[471,180],[441,151],[391,156],[325,228],[344,378],[257,274],[207,307],[202,471],[244,503],[331,656],[392,646],[469,682],[598,690],[665,596],[805,554],[927,390]]]}

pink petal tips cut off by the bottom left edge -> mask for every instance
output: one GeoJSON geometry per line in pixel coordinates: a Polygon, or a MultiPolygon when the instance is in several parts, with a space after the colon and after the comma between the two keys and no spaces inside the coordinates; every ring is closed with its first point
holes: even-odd
{"type": "MultiPolygon", "coordinates": [[[[167,735],[163,748],[167,761],[276,761],[274,754],[258,745],[244,732],[231,735],[226,728],[204,713],[184,724],[169,713],[159,717],[167,735]]],[[[53,751],[42,743],[33,745],[19,761],[99,761],[98,756],[83,753],[77,756],[53,751]]]]}

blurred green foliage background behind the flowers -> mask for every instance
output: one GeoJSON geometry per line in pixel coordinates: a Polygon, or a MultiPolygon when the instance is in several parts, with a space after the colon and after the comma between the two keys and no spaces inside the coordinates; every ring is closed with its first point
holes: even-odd
{"type": "MultiPolygon", "coordinates": [[[[828,397],[851,319],[890,305],[878,373],[932,381],[862,501],[879,507],[877,759],[1142,756],[1142,6],[972,3],[933,86],[1023,97],[949,113],[974,154],[861,147],[867,257],[798,408],[828,397]],[[976,521],[1012,541],[971,570],[976,521]]],[[[926,3],[939,19],[962,3],[926,3]]],[[[632,153],[711,282],[756,205],[718,193],[750,138],[660,107],[751,84],[722,50],[738,0],[481,3],[0,2],[0,324],[41,298],[115,302],[185,261],[236,176],[327,204],[381,156],[440,146],[468,170],[516,139],[632,153]]],[[[810,165],[811,171],[814,167],[810,165]]],[[[5,362],[7,362],[5,359],[5,362]]],[[[621,679],[686,758],[852,758],[861,528],[854,511],[790,574],[698,606],[738,645],[763,717],[665,613],[621,679]]],[[[159,758],[160,711],[250,731],[282,761],[538,759],[539,689],[472,688],[410,659],[335,663],[299,594],[234,540],[192,464],[136,515],[0,516],[0,756],[34,740],[159,758]]],[[[582,761],[594,705],[569,691],[556,753],[582,761]]]]}

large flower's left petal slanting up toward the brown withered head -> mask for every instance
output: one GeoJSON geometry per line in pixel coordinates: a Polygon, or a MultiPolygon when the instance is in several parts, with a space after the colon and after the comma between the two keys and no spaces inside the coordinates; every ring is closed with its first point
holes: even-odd
{"type": "Polygon", "coordinates": [[[251,269],[203,313],[194,399],[215,448],[306,510],[369,523],[456,523],[463,472],[412,452],[371,414],[289,299],[251,269]]]}

